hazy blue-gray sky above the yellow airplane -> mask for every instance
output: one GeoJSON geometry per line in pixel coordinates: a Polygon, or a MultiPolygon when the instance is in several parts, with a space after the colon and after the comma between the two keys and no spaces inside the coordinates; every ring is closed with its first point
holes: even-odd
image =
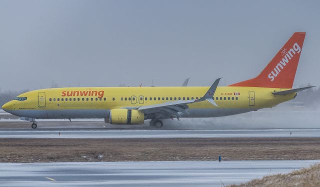
{"type": "Polygon", "coordinates": [[[319,1],[0,0],[0,88],[220,85],[305,31],[294,85],[320,84],[319,1]]]}

